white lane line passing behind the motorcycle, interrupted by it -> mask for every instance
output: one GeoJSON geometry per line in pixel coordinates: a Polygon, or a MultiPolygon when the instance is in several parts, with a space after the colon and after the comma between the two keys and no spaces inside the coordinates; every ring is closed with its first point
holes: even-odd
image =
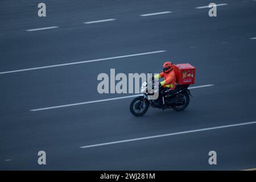
{"type": "MultiPolygon", "coordinates": [[[[208,86],[214,86],[214,85],[209,84],[209,85],[192,86],[189,89],[197,89],[197,88],[203,88],[203,87],[208,87],[208,86]]],[[[66,104],[66,105],[59,105],[59,106],[52,106],[52,107],[43,107],[43,108],[38,108],[38,109],[31,109],[30,111],[40,111],[40,110],[48,110],[48,109],[57,109],[57,108],[61,108],[61,107],[93,104],[93,103],[97,103],[97,102],[113,101],[113,100],[119,100],[119,99],[123,99],[123,98],[131,98],[131,97],[137,97],[137,96],[142,96],[142,94],[137,94],[137,95],[133,95],[133,96],[106,98],[106,99],[96,100],[96,101],[79,102],[79,103],[74,103],[74,104],[66,104]]]]}

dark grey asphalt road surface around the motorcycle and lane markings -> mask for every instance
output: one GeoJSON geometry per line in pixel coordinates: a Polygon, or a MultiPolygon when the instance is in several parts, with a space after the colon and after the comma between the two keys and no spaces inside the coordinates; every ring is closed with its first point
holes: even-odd
{"type": "Polygon", "coordinates": [[[256,121],[256,1],[0,2],[0,169],[240,170],[256,167],[256,124],[131,142],[91,144],[256,121]],[[171,11],[172,13],[140,16],[171,11]],[[85,24],[94,20],[115,19],[85,24]],[[34,28],[57,28],[26,31],[34,28]],[[255,38],[255,39],[253,39],[255,38]],[[104,59],[137,53],[165,51],[104,59]],[[186,110],[129,111],[133,98],[31,111],[131,94],[99,94],[97,76],[158,73],[166,60],[191,63],[196,84],[186,110]],[[89,63],[24,70],[94,60],[89,63]],[[18,72],[9,72],[18,71],[18,72]],[[7,72],[7,73],[5,73],[7,72]],[[38,164],[38,151],[47,164],[38,164]],[[209,165],[208,152],[217,152],[209,165]]]}

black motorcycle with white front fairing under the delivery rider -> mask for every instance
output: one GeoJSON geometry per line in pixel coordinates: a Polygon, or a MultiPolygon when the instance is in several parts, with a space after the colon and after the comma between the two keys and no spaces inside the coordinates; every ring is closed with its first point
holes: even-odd
{"type": "MultiPolygon", "coordinates": [[[[150,81],[150,84],[154,84],[154,79],[150,81]]],[[[150,85],[149,84],[149,85],[150,85]]],[[[174,90],[164,90],[163,88],[159,88],[159,86],[152,86],[154,89],[153,92],[148,92],[148,84],[147,82],[143,82],[141,86],[142,96],[135,97],[130,104],[131,114],[136,117],[144,115],[148,107],[154,107],[159,109],[174,109],[175,111],[184,110],[190,101],[191,93],[188,89],[189,85],[177,85],[174,90]],[[154,94],[159,92],[159,97],[154,98],[154,94]],[[168,93],[163,93],[168,92],[168,93]],[[170,92],[170,93],[169,93],[170,92]],[[162,103],[160,101],[162,100],[162,103]]]]}

